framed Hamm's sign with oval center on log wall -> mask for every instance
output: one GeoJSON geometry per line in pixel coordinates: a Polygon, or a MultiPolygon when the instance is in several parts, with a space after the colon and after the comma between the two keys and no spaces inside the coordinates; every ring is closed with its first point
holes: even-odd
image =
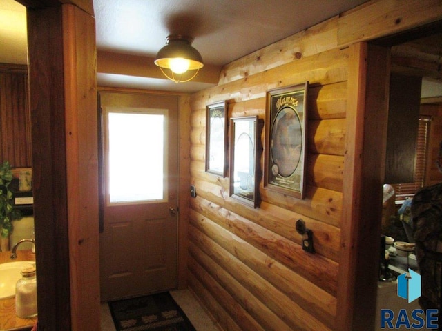
{"type": "Polygon", "coordinates": [[[267,91],[264,186],[304,199],[309,82],[267,91]]]}

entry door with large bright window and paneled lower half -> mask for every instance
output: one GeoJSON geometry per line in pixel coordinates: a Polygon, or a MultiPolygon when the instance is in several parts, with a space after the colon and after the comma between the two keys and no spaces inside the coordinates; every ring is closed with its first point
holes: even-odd
{"type": "Polygon", "coordinates": [[[179,97],[100,92],[101,299],[177,285],[179,97]]]}

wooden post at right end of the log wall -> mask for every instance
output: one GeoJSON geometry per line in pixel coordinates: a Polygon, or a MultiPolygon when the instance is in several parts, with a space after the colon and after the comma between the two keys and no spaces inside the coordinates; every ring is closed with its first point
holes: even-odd
{"type": "Polygon", "coordinates": [[[367,43],[350,46],[349,53],[335,329],[363,331],[374,330],[376,314],[390,53],[367,43]]]}

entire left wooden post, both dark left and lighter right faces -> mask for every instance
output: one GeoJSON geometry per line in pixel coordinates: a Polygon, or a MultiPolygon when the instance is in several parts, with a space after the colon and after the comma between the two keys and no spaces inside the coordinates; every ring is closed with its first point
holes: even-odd
{"type": "Polygon", "coordinates": [[[99,330],[95,23],[51,5],[28,9],[39,330],[99,330]]]}

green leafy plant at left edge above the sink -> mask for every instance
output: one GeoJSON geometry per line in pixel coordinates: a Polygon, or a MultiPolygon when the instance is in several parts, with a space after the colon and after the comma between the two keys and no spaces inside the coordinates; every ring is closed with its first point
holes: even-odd
{"type": "Polygon", "coordinates": [[[12,232],[12,221],[21,219],[21,212],[12,205],[12,191],[9,185],[12,171],[8,161],[0,165],[0,239],[3,241],[1,250],[8,250],[9,235],[12,232]]]}

